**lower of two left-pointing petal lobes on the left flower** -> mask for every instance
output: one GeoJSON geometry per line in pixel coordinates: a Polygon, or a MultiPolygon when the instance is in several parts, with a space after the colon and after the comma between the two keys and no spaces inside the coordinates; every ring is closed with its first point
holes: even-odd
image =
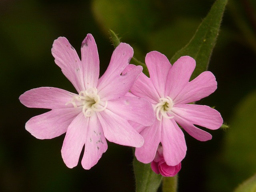
{"type": "Polygon", "coordinates": [[[79,108],[56,108],[34,116],[26,122],[26,130],[38,139],[51,139],[65,133],[74,118],[81,112],[79,108]]]}

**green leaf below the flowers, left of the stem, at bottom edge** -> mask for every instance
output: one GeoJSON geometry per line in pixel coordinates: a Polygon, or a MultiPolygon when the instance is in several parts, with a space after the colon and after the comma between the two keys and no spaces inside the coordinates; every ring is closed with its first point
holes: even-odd
{"type": "Polygon", "coordinates": [[[136,192],[156,192],[161,184],[162,175],[152,171],[150,163],[139,162],[136,157],[133,160],[136,180],[136,192]]]}

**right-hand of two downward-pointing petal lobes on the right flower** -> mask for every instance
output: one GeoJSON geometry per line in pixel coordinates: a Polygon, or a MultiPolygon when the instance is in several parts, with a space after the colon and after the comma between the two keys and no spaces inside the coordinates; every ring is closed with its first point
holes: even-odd
{"type": "Polygon", "coordinates": [[[161,137],[166,164],[176,166],[186,156],[187,147],[184,134],[174,119],[162,118],[161,137]]]}

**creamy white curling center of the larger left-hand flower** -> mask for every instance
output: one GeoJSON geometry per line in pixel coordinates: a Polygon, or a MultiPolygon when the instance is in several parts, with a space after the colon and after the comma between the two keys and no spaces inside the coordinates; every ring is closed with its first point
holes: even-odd
{"type": "Polygon", "coordinates": [[[80,91],[78,95],[74,95],[72,100],[65,105],[73,104],[74,108],[78,106],[82,107],[84,117],[92,116],[93,112],[100,112],[107,108],[108,101],[105,101],[105,105],[102,106],[98,90],[96,88],[89,88],[85,91],[80,91]]]}

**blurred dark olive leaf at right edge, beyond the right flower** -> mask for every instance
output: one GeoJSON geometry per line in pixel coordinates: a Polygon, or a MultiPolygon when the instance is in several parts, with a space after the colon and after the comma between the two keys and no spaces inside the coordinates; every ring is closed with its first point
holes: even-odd
{"type": "Polygon", "coordinates": [[[256,172],[256,91],[239,102],[226,130],[223,151],[209,162],[211,192],[232,191],[256,172]]]}

